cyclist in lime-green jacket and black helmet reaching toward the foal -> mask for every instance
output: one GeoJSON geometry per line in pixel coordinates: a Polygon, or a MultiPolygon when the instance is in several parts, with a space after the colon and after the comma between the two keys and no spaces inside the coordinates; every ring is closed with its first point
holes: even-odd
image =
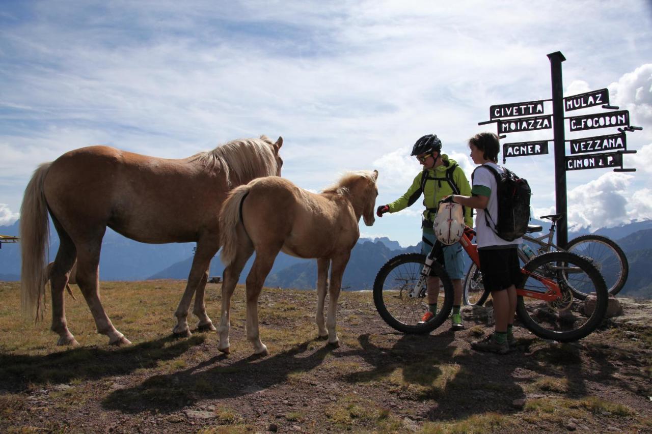
{"type": "MultiPolygon", "coordinates": [[[[446,154],[441,153],[441,140],[435,134],[427,134],[417,140],[410,155],[417,157],[417,160],[423,166],[423,171],[419,172],[414,178],[406,194],[392,203],[380,205],[376,210],[376,215],[382,217],[386,212],[398,212],[406,209],[423,195],[423,205],[426,209],[423,212],[421,224],[421,253],[427,255],[436,241],[433,224],[437,204],[441,199],[451,194],[471,195],[471,186],[469,186],[469,181],[466,179],[462,167],[458,166],[446,154]]],[[[473,227],[471,209],[468,207],[464,209],[464,223],[473,227]]],[[[452,244],[452,246],[443,246],[443,257],[439,257],[437,260],[439,262],[443,261],[454,289],[451,328],[453,330],[462,330],[464,328],[460,313],[462,279],[464,279],[464,251],[462,246],[459,243],[452,244]]],[[[422,321],[428,321],[437,314],[439,278],[431,276],[426,284],[428,285],[429,311],[423,315],[422,321]]]]}

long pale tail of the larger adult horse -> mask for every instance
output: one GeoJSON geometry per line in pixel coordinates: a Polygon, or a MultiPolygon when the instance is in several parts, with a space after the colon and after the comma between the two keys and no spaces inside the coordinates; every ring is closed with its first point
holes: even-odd
{"type": "Polygon", "coordinates": [[[23,312],[37,320],[43,318],[44,283],[49,277],[46,246],[50,233],[43,182],[51,165],[41,164],[34,171],[20,206],[20,301],[23,312]]]}

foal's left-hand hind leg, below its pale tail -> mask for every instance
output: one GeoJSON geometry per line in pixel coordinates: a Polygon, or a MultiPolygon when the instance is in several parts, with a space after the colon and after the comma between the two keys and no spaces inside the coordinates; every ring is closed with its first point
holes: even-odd
{"type": "MultiPolygon", "coordinates": [[[[236,228],[236,231],[243,231],[241,225],[236,228]]],[[[231,344],[229,342],[229,331],[231,330],[231,296],[233,295],[233,291],[235,291],[235,285],[238,283],[246,261],[254,253],[254,246],[251,244],[249,237],[239,237],[239,239],[242,241],[238,245],[235,258],[224,269],[224,273],[222,274],[222,311],[219,327],[220,342],[217,345],[217,349],[226,354],[231,352],[231,344]]]]}

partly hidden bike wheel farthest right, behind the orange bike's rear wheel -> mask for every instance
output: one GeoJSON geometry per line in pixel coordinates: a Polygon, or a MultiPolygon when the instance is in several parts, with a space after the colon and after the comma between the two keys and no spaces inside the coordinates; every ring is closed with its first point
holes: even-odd
{"type": "Polygon", "coordinates": [[[570,240],[566,250],[591,258],[610,294],[616,295],[625,286],[629,263],[625,252],[614,240],[601,235],[582,235],[570,240]]]}

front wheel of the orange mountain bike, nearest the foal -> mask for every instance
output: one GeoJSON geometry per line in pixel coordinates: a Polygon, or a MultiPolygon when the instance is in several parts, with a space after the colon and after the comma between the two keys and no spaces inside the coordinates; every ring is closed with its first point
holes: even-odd
{"type": "Polygon", "coordinates": [[[430,321],[421,323],[428,311],[426,285],[419,297],[408,297],[419,280],[426,257],[420,253],[406,253],[387,261],[380,268],[374,281],[374,304],[385,323],[399,332],[428,333],[439,327],[449,317],[452,309],[453,289],[447,272],[436,261],[432,263],[430,276],[438,276],[443,285],[439,291],[439,311],[430,321]]]}

